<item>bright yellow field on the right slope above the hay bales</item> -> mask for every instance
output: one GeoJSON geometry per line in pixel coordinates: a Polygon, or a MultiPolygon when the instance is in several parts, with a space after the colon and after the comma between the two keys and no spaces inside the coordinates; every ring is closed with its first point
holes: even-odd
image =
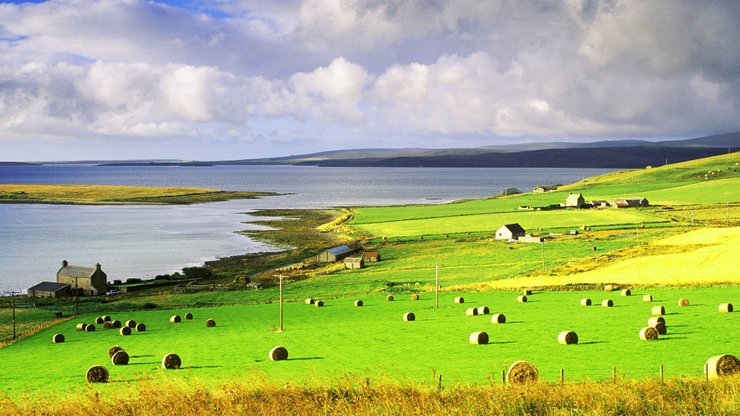
{"type": "Polygon", "coordinates": [[[671,254],[627,258],[565,276],[530,276],[489,282],[488,288],[547,286],[573,283],[638,285],[740,283],[740,227],[703,228],[651,243],[679,246],[671,254]]]}

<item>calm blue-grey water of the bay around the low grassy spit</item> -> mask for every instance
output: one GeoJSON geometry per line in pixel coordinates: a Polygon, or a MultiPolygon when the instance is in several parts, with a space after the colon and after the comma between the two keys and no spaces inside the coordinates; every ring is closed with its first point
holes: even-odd
{"type": "Polygon", "coordinates": [[[194,206],[0,204],[0,290],[54,281],[62,260],[100,262],[108,279],[153,277],[271,248],[235,233],[263,208],[441,203],[508,187],[569,183],[604,169],[295,166],[0,167],[0,183],[209,187],[285,195],[194,206]]]}

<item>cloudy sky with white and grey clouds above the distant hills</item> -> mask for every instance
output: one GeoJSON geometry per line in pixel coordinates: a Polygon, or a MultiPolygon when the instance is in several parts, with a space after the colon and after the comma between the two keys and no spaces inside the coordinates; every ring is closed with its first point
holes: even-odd
{"type": "Polygon", "coordinates": [[[0,1],[0,161],[740,131],[735,0],[0,1]]]}

